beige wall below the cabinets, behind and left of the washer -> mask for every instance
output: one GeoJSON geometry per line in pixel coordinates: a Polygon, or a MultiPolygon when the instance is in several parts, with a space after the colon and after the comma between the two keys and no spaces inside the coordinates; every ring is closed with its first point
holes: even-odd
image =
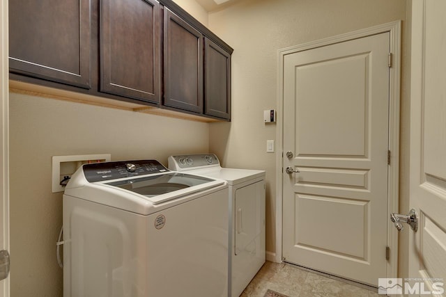
{"type": "Polygon", "coordinates": [[[10,93],[11,296],[62,296],[62,193],[52,156],[157,159],[208,151],[208,124],[10,93]]]}

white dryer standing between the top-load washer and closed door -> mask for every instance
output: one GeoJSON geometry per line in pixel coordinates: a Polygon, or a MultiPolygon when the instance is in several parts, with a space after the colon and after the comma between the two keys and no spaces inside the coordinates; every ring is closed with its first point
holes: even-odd
{"type": "Polygon", "coordinates": [[[229,184],[229,295],[240,296],[265,263],[265,171],[222,168],[215,154],[169,156],[169,169],[229,184]]]}

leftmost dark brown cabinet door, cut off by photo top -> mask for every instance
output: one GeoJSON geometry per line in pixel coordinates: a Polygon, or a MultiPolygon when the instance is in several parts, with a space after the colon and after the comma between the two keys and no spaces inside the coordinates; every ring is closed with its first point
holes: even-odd
{"type": "Polygon", "coordinates": [[[9,1],[10,72],[91,88],[89,0],[9,1]]]}

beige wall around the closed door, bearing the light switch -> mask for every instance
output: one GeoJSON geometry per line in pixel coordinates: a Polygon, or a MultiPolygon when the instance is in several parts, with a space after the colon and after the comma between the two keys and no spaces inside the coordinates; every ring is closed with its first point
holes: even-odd
{"type": "MultiPolygon", "coordinates": [[[[266,153],[266,141],[275,140],[276,125],[263,123],[263,110],[277,105],[277,50],[398,19],[403,20],[405,33],[406,0],[243,0],[210,13],[210,29],[234,49],[232,121],[210,124],[210,152],[220,156],[226,167],[266,170],[266,248],[271,255],[275,221],[280,218],[275,217],[275,155],[266,153]]],[[[403,51],[405,42],[403,37],[403,51]]],[[[403,56],[403,69],[408,61],[403,56]]],[[[408,129],[407,81],[403,76],[403,135],[408,129]]],[[[408,152],[408,139],[401,141],[401,149],[408,152]]],[[[403,156],[405,166],[408,159],[403,156]]]]}

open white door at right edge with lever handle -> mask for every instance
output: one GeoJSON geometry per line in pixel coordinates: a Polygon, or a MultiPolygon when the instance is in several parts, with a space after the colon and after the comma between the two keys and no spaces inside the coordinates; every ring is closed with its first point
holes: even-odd
{"type": "MultiPolygon", "coordinates": [[[[410,118],[409,294],[446,296],[446,1],[413,1],[410,118]],[[441,280],[443,279],[443,280],[441,280]]],[[[408,210],[406,210],[408,211],[408,210]]],[[[407,236],[407,234],[403,234],[407,236]]]]}

